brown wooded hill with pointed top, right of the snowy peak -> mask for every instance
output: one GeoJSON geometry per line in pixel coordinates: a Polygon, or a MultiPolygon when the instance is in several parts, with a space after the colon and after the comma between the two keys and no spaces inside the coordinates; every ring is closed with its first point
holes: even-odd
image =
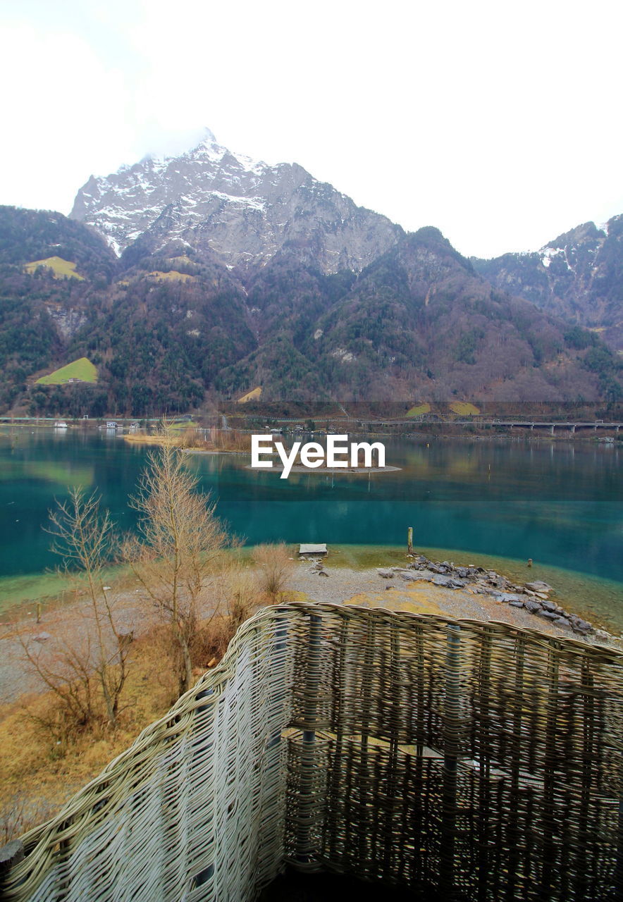
{"type": "Polygon", "coordinates": [[[596,400],[618,362],[525,299],[492,288],[435,228],[362,273],[275,260],[248,286],[258,345],[219,373],[226,395],[266,400],[596,400]]]}

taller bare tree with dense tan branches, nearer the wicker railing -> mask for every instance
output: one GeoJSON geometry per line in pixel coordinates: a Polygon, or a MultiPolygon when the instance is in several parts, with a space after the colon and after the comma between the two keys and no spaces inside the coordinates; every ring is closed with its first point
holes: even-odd
{"type": "MultiPolygon", "coordinates": [[[[169,426],[162,427],[169,437],[169,426]]],[[[192,643],[199,599],[227,540],[215,502],[197,492],[197,477],[170,441],[151,451],[131,504],[139,511],[139,535],[128,538],[124,557],[179,649],[179,692],[192,681],[192,643]]]]}

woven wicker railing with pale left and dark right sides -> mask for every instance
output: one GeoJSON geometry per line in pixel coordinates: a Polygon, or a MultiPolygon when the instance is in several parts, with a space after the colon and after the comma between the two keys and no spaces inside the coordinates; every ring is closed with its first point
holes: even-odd
{"type": "Polygon", "coordinates": [[[623,656],[503,623],[266,608],[23,837],[14,900],[257,897],[286,864],[441,899],[615,899],[623,656]]]}

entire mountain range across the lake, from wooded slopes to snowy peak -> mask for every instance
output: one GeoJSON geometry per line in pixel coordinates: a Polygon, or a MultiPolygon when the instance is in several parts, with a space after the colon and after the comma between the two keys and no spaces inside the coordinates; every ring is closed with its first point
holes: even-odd
{"type": "Polygon", "coordinates": [[[206,133],[91,177],[69,217],[0,207],[0,412],[138,417],[247,394],[612,409],[622,224],[467,260],[436,228],[406,234],[206,133]],[[83,357],[96,382],[37,382],[83,357]]]}

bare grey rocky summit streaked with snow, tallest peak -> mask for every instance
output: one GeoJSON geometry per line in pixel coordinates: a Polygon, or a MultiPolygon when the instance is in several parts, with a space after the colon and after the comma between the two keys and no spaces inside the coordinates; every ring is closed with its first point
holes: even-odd
{"type": "Polygon", "coordinates": [[[129,262],[174,243],[230,269],[266,262],[289,244],[313,254],[322,272],[357,272],[402,235],[301,166],[252,161],[209,131],[181,156],[92,176],[70,217],[95,228],[129,262]]]}

